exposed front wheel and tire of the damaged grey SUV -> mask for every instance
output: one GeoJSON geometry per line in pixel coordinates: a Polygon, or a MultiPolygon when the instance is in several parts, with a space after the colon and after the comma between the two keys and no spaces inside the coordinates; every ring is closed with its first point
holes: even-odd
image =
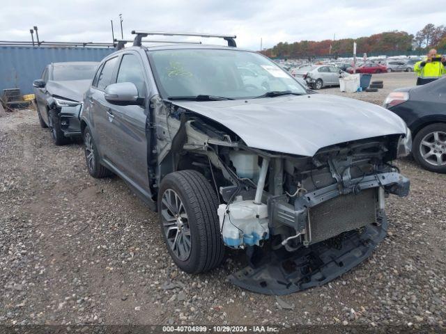
{"type": "Polygon", "coordinates": [[[167,250],[186,273],[203,273],[224,257],[217,194],[196,170],[170,173],[161,182],[158,214],[167,250]]]}

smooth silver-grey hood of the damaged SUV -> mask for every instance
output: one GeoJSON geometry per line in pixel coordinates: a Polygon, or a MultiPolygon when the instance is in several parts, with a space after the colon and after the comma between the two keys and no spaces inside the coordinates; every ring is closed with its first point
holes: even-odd
{"type": "Polygon", "coordinates": [[[174,104],[219,122],[249,147],[307,157],[338,143],[406,133],[391,111],[334,95],[174,104]]]}

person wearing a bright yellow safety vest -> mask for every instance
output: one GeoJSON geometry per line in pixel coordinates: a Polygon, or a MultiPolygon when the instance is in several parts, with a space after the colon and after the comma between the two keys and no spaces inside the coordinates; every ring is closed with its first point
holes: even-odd
{"type": "Polygon", "coordinates": [[[417,85],[424,85],[446,74],[446,57],[438,56],[436,49],[429,50],[425,61],[419,61],[413,66],[413,71],[418,75],[417,85]]]}

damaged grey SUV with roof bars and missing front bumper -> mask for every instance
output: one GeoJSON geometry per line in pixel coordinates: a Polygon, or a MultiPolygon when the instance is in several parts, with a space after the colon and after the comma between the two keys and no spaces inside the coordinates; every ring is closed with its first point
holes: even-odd
{"type": "MultiPolygon", "coordinates": [[[[141,45],[107,56],[86,92],[82,134],[93,177],[114,173],[160,216],[174,262],[248,266],[229,279],[266,294],[322,285],[385,237],[385,198],[407,196],[392,161],[410,132],[386,109],[316,94],[252,51],[141,45]]],[[[170,34],[172,35],[172,34],[170,34]]]]}

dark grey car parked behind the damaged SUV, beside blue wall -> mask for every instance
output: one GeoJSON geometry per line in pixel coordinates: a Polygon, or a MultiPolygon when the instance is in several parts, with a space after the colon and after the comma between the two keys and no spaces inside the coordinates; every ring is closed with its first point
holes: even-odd
{"type": "Polygon", "coordinates": [[[97,66],[94,62],[51,63],[33,82],[40,125],[51,129],[56,145],[80,136],[82,100],[97,66]]]}

